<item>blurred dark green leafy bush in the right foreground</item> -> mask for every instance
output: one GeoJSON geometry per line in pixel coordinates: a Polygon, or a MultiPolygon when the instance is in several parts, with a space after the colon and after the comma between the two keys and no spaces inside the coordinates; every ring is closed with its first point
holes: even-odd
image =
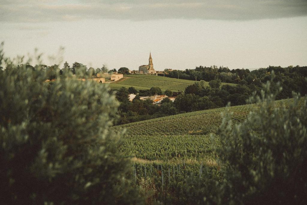
{"type": "MultiPolygon", "coordinates": [[[[218,203],[304,204],[307,200],[307,103],[293,94],[293,102],[277,104],[268,81],[258,103],[242,124],[231,129],[224,114],[217,151],[225,183],[218,203]],[[264,120],[265,119],[265,120],[264,120]]],[[[279,89],[280,91],[280,89],[279,89]]],[[[214,195],[214,194],[213,194],[214,195]]]]}

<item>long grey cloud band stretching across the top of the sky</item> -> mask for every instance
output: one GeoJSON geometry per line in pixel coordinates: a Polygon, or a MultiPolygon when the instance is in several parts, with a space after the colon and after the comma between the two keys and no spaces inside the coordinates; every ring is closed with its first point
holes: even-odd
{"type": "Polygon", "coordinates": [[[82,19],[244,21],[306,15],[307,1],[305,0],[0,0],[0,21],[2,22],[50,22],[82,19]]]}

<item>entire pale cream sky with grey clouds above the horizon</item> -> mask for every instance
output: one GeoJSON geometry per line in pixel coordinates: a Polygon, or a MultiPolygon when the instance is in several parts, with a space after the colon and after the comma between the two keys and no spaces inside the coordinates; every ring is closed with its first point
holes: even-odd
{"type": "Polygon", "coordinates": [[[307,65],[305,0],[0,0],[0,28],[5,56],[38,49],[46,65],[307,65]]]}

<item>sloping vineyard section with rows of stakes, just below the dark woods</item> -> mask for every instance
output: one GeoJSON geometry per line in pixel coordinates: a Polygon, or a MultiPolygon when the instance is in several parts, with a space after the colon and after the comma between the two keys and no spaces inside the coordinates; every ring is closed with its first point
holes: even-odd
{"type": "MultiPolygon", "coordinates": [[[[236,123],[246,119],[255,105],[239,105],[230,107],[233,120],[236,123]]],[[[188,112],[179,115],[166,116],[115,126],[115,130],[127,129],[128,135],[184,135],[198,131],[210,132],[221,123],[220,113],[225,108],[188,112]]]]}

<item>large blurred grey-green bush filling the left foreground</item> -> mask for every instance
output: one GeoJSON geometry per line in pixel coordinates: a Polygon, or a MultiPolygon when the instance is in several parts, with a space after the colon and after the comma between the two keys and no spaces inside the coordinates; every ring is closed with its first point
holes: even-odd
{"type": "Polygon", "coordinates": [[[115,97],[92,81],[46,79],[44,69],[0,72],[1,203],[145,203],[110,128],[115,97]]]}

